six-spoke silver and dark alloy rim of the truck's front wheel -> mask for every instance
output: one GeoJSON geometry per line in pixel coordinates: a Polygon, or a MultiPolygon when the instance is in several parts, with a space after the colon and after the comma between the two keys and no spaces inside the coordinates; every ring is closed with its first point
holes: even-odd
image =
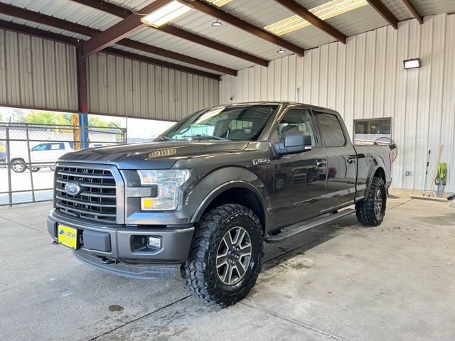
{"type": "Polygon", "coordinates": [[[233,286],[239,283],[251,262],[250,234],[243,227],[232,227],[220,242],[216,254],[216,271],[220,281],[233,286]]]}

